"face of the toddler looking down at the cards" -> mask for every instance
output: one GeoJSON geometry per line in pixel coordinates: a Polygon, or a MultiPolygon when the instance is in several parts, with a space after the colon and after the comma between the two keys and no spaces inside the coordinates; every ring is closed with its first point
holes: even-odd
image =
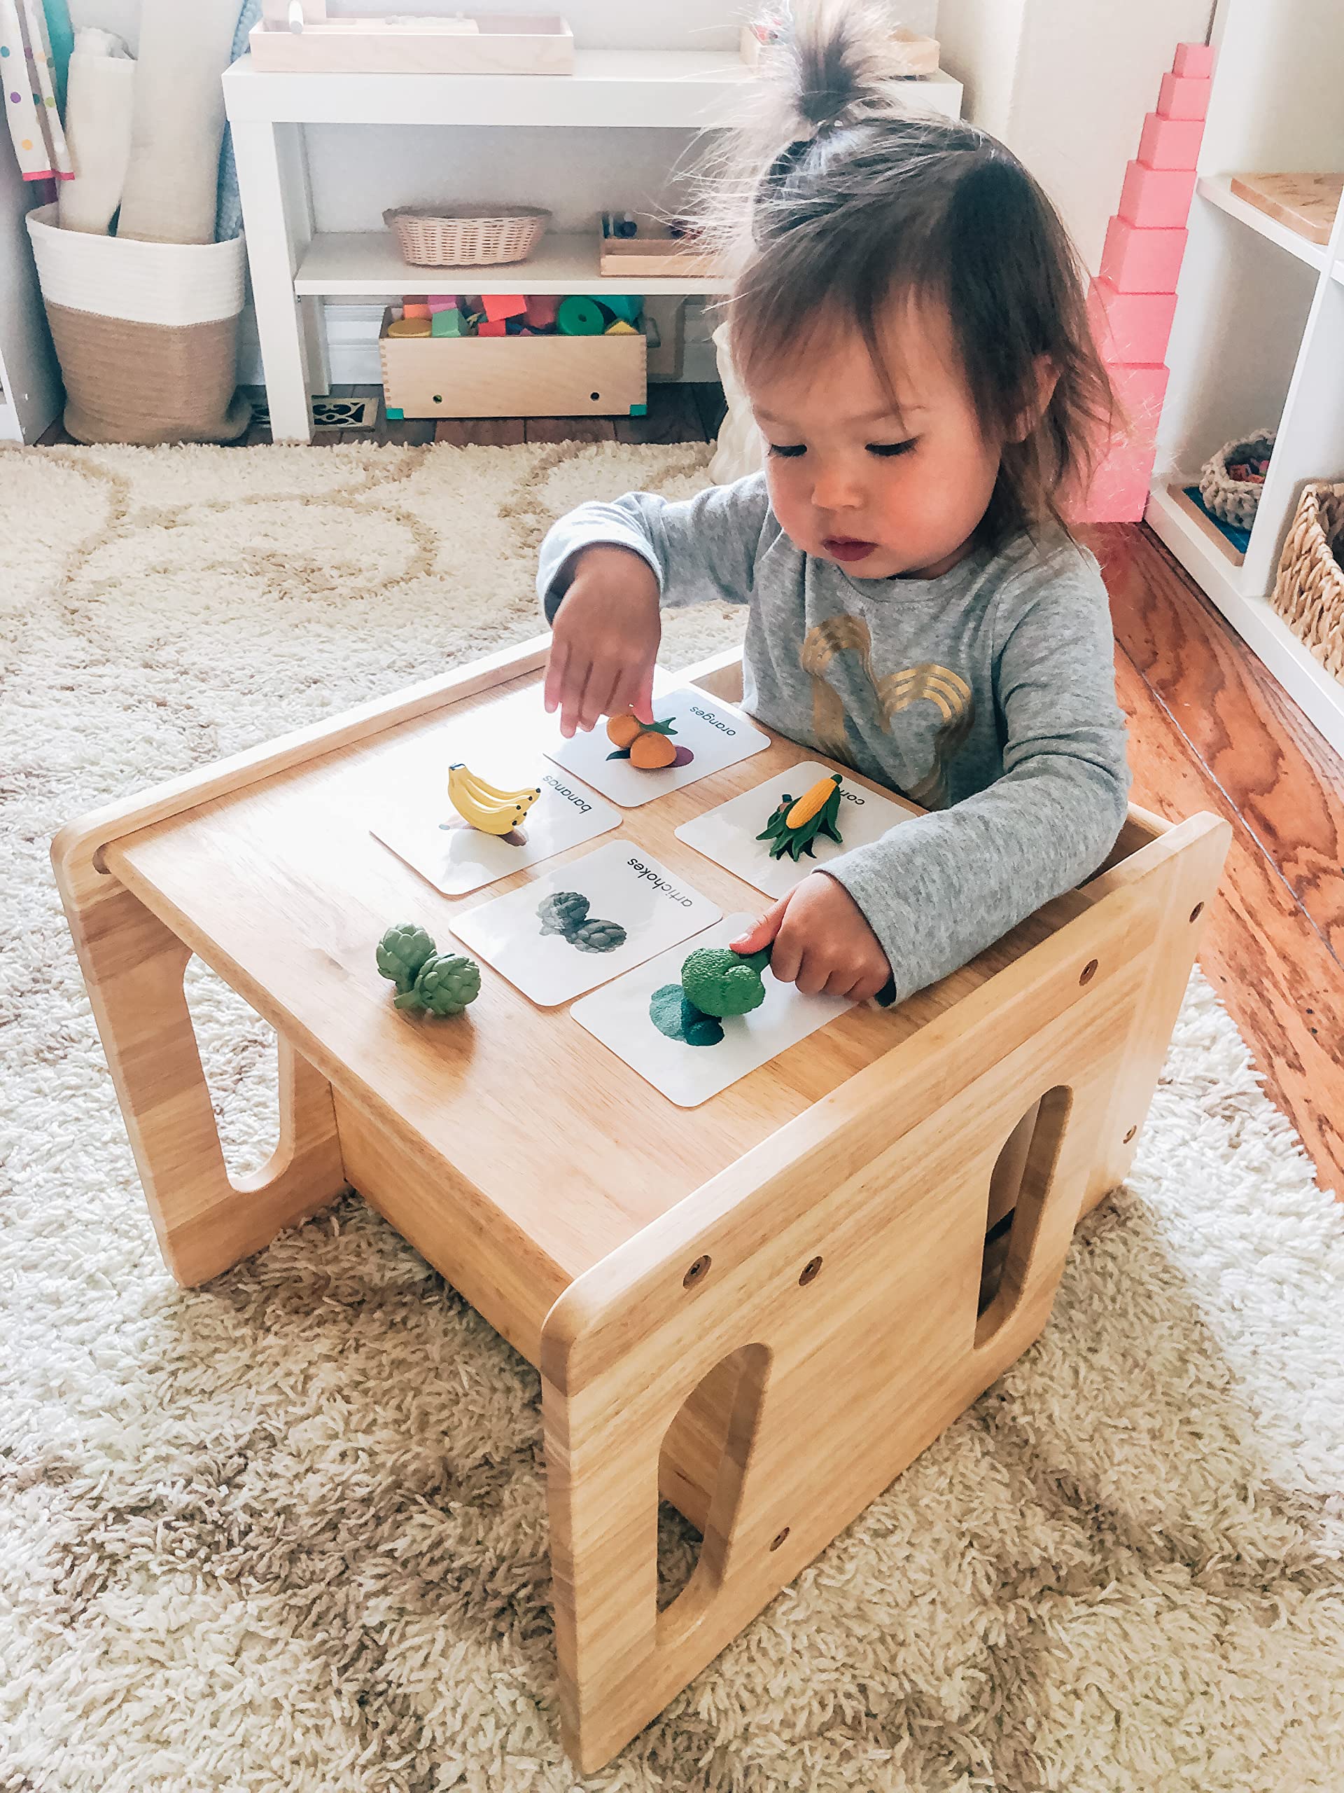
{"type": "Polygon", "coordinates": [[[892,412],[857,330],[819,332],[751,384],[780,525],[806,554],[858,579],[955,567],[989,507],[998,443],[971,405],[946,312],[892,317],[892,412]]]}

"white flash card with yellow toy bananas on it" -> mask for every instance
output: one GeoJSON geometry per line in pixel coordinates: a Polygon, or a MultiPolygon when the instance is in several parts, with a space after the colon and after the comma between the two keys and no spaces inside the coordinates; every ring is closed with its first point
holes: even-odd
{"type": "MultiPolygon", "coordinates": [[[[491,771],[502,764],[520,760],[491,755],[491,771]]],[[[400,793],[373,834],[444,896],[464,896],[620,825],[620,810],[561,767],[538,755],[529,769],[532,784],[511,785],[453,760],[437,794],[400,793]]]]}

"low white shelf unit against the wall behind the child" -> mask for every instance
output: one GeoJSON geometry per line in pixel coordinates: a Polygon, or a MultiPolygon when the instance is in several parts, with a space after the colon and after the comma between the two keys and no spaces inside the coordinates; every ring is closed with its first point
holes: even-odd
{"type": "MultiPolygon", "coordinates": [[[[706,294],[702,278],[604,278],[593,237],[543,238],[504,269],[414,269],[387,233],[317,231],[305,126],[480,126],[711,131],[754,82],[735,52],[577,50],[573,75],[263,75],[244,56],[224,74],[238,161],[256,332],[276,441],[312,439],[312,394],[330,387],[321,301],[401,292],[706,294]]],[[[961,113],[950,75],[910,82],[912,102],[961,113]]],[[[597,208],[595,208],[597,210],[597,208]]]]}

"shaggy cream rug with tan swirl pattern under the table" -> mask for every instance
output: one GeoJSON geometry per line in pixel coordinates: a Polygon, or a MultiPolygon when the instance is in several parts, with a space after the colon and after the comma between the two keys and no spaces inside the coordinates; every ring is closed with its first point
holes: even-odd
{"type": "MultiPolygon", "coordinates": [[[[4,1793],[575,1786],[536,1373],[357,1198],[168,1278],[47,843],[534,633],[550,516],[704,455],[0,454],[4,1793]]],[[[192,999],[256,1164],[263,1029],[192,999]]],[[[590,1786],[1339,1793],[1340,1316],[1344,1210],[1197,977],[1039,1345],[590,1786]]]]}

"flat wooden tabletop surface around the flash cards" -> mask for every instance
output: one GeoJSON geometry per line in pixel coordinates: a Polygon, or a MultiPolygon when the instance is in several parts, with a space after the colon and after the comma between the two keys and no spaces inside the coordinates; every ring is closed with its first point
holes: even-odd
{"type": "Polygon", "coordinates": [[[375,965],[385,927],[416,920],[441,950],[453,950],[455,916],[611,839],[638,845],[724,914],[767,905],[674,830],[801,758],[817,758],[785,737],[622,810],[618,834],[466,896],[439,895],[373,837],[392,757],[437,758],[446,775],[453,755],[439,737],[462,717],[539,703],[539,676],[527,674],[353,746],[317,748],[289,771],[124,836],[108,857],[116,877],[346,1099],[416,1140],[430,1164],[437,1155],[452,1165],[573,1277],[959,1000],[1043,938],[1048,923],[1023,923],[900,1009],[848,1009],[690,1110],[645,1083],[568,1008],[534,1006],[486,963],[480,995],[464,1015],[409,1017],[392,1006],[392,986],[375,965]]]}

